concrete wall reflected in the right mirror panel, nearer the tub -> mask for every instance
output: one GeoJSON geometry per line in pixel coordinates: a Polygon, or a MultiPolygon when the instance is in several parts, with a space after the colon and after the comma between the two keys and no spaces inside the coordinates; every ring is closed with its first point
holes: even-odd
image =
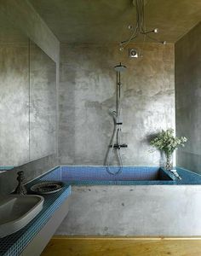
{"type": "Polygon", "coordinates": [[[30,45],[30,160],[56,153],[56,65],[30,45]]]}

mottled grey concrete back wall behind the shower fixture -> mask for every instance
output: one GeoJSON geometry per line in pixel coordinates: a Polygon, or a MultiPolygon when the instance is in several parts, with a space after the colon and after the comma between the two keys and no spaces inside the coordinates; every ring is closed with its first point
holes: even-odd
{"type": "MultiPolygon", "coordinates": [[[[141,44],[135,44],[139,48],[141,44]]],[[[174,45],[145,44],[144,57],[129,59],[110,45],[61,44],[59,158],[64,165],[103,165],[112,136],[116,73],[122,61],[123,164],[158,166],[149,137],[175,128],[174,45]]]]}

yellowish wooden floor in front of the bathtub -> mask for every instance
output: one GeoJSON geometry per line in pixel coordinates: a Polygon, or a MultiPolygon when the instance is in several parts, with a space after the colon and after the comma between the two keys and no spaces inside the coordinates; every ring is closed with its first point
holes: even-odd
{"type": "Polygon", "coordinates": [[[54,236],[42,256],[201,256],[201,237],[54,236]]]}

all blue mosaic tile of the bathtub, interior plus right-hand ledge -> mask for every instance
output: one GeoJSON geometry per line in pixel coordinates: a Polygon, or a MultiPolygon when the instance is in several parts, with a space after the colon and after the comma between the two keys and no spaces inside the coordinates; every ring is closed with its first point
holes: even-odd
{"type": "MultiPolygon", "coordinates": [[[[112,171],[118,167],[112,166],[112,171]]],[[[154,166],[123,166],[118,175],[106,172],[106,166],[60,166],[42,180],[60,180],[68,185],[173,185],[201,184],[197,173],[176,167],[181,180],[163,168],[154,166]],[[58,178],[58,179],[56,179],[58,178]]]]}

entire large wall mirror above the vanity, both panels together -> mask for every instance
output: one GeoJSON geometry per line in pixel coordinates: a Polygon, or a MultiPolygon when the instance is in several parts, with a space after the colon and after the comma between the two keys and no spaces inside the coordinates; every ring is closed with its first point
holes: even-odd
{"type": "Polygon", "coordinates": [[[56,152],[56,65],[0,14],[0,171],[56,152]]]}

